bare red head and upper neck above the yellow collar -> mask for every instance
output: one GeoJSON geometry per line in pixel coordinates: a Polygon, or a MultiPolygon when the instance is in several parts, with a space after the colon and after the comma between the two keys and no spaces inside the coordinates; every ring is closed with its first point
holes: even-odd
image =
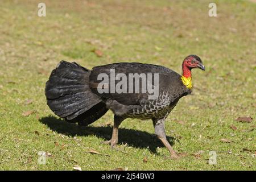
{"type": "Polygon", "coordinates": [[[203,71],[205,71],[205,67],[204,67],[199,56],[189,55],[184,59],[184,61],[182,63],[183,76],[191,77],[191,69],[192,68],[199,68],[199,69],[202,69],[203,71]]]}

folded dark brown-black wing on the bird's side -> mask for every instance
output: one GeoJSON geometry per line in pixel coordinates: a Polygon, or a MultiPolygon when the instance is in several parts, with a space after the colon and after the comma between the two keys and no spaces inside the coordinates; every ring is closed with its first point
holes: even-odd
{"type": "MultiPolygon", "coordinates": [[[[114,90],[114,93],[111,93],[111,86],[117,85],[120,80],[115,80],[115,84],[110,84],[110,77],[111,74],[117,76],[118,73],[125,74],[127,78],[127,82],[129,80],[129,73],[138,75],[141,75],[141,73],[144,73],[147,75],[148,73],[151,73],[152,75],[152,85],[155,85],[154,82],[154,73],[158,73],[159,77],[159,92],[163,92],[163,90],[168,90],[168,86],[172,85],[172,82],[180,77],[179,74],[172,71],[171,69],[159,66],[159,65],[151,65],[151,64],[141,64],[141,63],[115,63],[115,64],[108,64],[108,65],[102,65],[99,67],[94,67],[92,69],[92,72],[89,77],[90,81],[90,88],[93,90],[94,93],[96,93],[101,98],[105,98],[106,100],[115,100],[118,101],[120,104],[123,105],[140,105],[143,101],[148,100],[148,96],[152,95],[148,92],[142,93],[142,82],[139,84],[139,93],[135,93],[135,86],[133,86],[133,93],[129,93],[129,84],[127,84],[127,93],[117,93],[116,90],[114,90]],[[114,71],[114,72],[113,72],[114,71]],[[111,73],[112,72],[112,73],[111,73]],[[108,90],[108,93],[99,93],[99,83],[102,81],[99,79],[99,75],[103,73],[105,76],[108,76],[108,83],[104,85],[104,88],[108,90]],[[172,78],[174,77],[174,78],[172,78]]],[[[101,75],[102,76],[102,75],[101,75]]],[[[148,83],[148,82],[147,82],[148,83]]],[[[133,85],[135,85],[135,82],[133,81],[133,85]]],[[[101,86],[100,86],[101,88],[101,86]]],[[[144,86],[143,86],[144,88],[144,86]]],[[[148,90],[147,90],[148,91],[148,90]]]]}

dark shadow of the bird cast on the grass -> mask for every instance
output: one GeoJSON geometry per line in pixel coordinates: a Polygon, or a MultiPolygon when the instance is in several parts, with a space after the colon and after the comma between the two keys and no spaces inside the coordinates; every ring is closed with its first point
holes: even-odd
{"type": "MultiPolygon", "coordinates": [[[[40,118],[39,121],[47,125],[52,131],[71,137],[95,135],[105,140],[109,140],[112,137],[111,126],[79,126],[52,116],[40,118]]],[[[157,153],[157,147],[163,147],[162,142],[154,134],[147,133],[146,131],[124,128],[119,128],[118,131],[118,143],[127,143],[129,146],[138,148],[149,148],[153,153],[157,153]]],[[[174,144],[174,138],[167,136],[167,140],[171,145],[174,144]]]]}

